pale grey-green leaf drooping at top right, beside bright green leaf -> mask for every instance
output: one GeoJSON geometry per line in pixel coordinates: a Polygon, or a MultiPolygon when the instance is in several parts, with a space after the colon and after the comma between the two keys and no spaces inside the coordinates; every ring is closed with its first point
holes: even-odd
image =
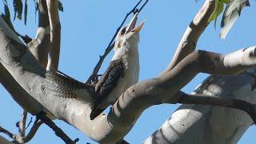
{"type": "Polygon", "coordinates": [[[222,30],[219,34],[220,38],[226,38],[226,34],[228,34],[231,27],[234,25],[234,22],[240,16],[241,10],[245,6],[250,6],[248,0],[230,0],[230,3],[226,6],[226,9],[222,15],[222,30]]]}

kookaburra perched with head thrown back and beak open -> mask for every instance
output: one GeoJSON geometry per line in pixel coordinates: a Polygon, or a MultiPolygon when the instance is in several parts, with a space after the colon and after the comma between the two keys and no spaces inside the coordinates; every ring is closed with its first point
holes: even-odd
{"type": "Polygon", "coordinates": [[[115,38],[114,56],[95,86],[95,99],[90,119],[96,118],[108,106],[113,105],[127,88],[138,82],[139,31],[144,22],[136,26],[137,19],[138,13],[134,14],[130,24],[123,27],[115,38]]]}

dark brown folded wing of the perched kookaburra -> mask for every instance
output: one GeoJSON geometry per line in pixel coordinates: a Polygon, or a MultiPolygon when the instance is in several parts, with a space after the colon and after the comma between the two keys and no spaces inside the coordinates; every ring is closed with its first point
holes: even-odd
{"type": "Polygon", "coordinates": [[[110,66],[107,68],[106,72],[102,75],[95,87],[96,97],[94,98],[94,106],[90,114],[91,119],[96,118],[98,114],[101,114],[102,111],[106,109],[99,109],[98,105],[100,105],[110,94],[111,90],[117,86],[119,78],[123,77],[124,70],[125,65],[122,59],[110,62],[110,66]]]}

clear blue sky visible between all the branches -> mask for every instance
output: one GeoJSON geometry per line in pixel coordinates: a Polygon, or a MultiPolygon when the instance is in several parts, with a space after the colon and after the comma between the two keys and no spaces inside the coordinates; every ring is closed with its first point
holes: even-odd
{"type": "MultiPolygon", "coordinates": [[[[11,6],[12,0],[7,1],[11,6]]],[[[62,50],[59,70],[82,82],[85,81],[98,62],[98,55],[104,52],[116,28],[136,2],[138,0],[62,0],[64,12],[60,13],[62,50]]],[[[174,54],[175,47],[178,46],[178,42],[186,30],[186,26],[194,18],[203,2],[205,1],[201,0],[196,3],[194,0],[150,0],[138,19],[139,22],[146,19],[146,24],[140,34],[141,41],[139,44],[140,81],[153,78],[166,68],[174,54]]],[[[14,26],[21,34],[34,37],[37,21],[35,21],[34,15],[34,2],[29,1],[29,3],[27,26],[23,26],[23,22],[18,21],[14,22],[14,26]]],[[[214,30],[214,26],[211,24],[202,34],[197,49],[225,54],[239,48],[255,45],[255,5],[255,2],[251,1],[251,7],[246,7],[246,10],[242,11],[241,18],[235,23],[226,39],[218,38],[219,28],[214,30]]],[[[3,10],[1,2],[0,10],[3,10]]],[[[106,69],[110,57],[112,54],[106,59],[102,71],[106,69]]],[[[206,76],[206,74],[198,74],[183,90],[187,93],[192,92],[195,86],[202,82],[206,76]]],[[[141,143],[154,130],[157,130],[177,107],[178,105],[150,107],[144,111],[125,139],[130,143],[141,143]]],[[[2,110],[0,126],[17,133],[18,128],[15,127],[15,123],[20,119],[22,109],[2,86],[0,86],[0,110],[2,110]]],[[[78,143],[95,143],[66,122],[58,120],[55,122],[70,138],[80,138],[78,143]]],[[[256,127],[251,126],[239,143],[255,143],[255,132],[256,127]]],[[[42,126],[29,143],[43,144],[46,142],[63,143],[47,126],[42,126]]]]}

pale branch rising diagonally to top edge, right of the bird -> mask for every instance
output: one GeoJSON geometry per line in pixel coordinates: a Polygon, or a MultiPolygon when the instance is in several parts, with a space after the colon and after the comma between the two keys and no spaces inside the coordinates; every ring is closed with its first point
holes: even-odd
{"type": "Polygon", "coordinates": [[[214,0],[206,0],[193,21],[190,22],[190,26],[186,28],[186,31],[176,48],[174,57],[163,73],[172,70],[178,62],[195,50],[198,38],[200,38],[201,34],[206,30],[206,26],[209,24],[208,19],[210,18],[210,14],[214,11],[214,2],[214,0]]]}

